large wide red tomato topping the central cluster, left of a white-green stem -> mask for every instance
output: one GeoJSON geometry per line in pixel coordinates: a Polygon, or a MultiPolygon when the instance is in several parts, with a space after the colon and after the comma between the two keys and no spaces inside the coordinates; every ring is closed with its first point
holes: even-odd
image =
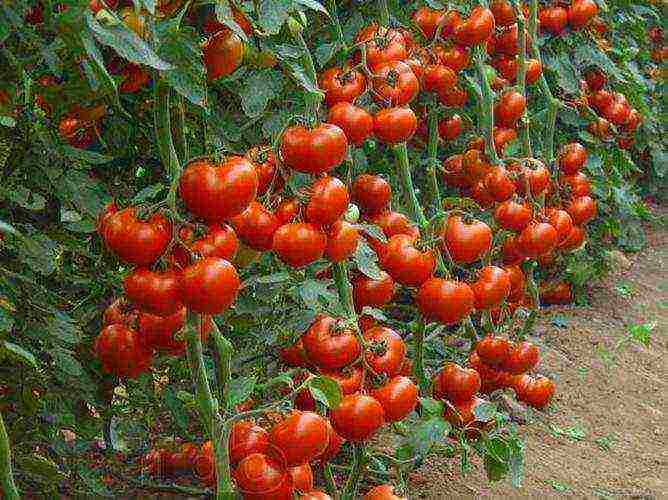
{"type": "Polygon", "coordinates": [[[311,129],[295,125],[281,138],[283,161],[288,167],[305,174],[332,170],[341,164],[347,152],[346,134],[331,123],[321,123],[311,129]]]}

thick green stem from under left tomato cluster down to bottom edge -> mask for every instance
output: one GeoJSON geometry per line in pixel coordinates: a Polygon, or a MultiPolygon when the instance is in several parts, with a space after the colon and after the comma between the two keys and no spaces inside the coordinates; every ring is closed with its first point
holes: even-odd
{"type": "Polygon", "coordinates": [[[228,440],[223,438],[223,421],[218,412],[218,402],[211,392],[206,367],[204,366],[199,328],[192,328],[192,324],[188,329],[186,346],[188,359],[191,362],[191,376],[196,387],[200,419],[213,445],[216,469],[216,499],[232,499],[234,498],[234,486],[230,473],[228,440]]]}

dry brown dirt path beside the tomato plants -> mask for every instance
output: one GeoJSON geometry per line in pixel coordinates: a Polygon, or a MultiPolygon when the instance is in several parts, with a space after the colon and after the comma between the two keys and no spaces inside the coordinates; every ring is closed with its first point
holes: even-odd
{"type": "Polygon", "coordinates": [[[489,485],[476,466],[431,459],[412,476],[411,498],[668,498],[668,232],[591,289],[587,307],[554,307],[539,323],[539,371],[557,383],[549,415],[524,426],[525,478],[489,485]],[[626,344],[602,360],[634,325],[655,324],[649,347],[626,344]]]}

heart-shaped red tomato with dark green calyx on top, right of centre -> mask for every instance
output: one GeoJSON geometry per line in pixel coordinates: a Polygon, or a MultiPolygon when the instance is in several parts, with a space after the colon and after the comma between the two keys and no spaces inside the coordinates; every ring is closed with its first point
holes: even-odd
{"type": "Polygon", "coordinates": [[[492,248],[492,230],[479,220],[466,220],[460,215],[448,218],[441,237],[445,249],[455,262],[471,263],[492,248]]]}

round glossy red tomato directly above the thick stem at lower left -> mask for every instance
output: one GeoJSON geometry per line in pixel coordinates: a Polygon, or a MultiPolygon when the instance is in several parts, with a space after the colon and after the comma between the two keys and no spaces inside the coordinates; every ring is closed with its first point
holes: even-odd
{"type": "Polygon", "coordinates": [[[241,285],[232,264],[205,257],[183,270],[183,303],[201,314],[221,314],[236,300],[241,285]]]}

